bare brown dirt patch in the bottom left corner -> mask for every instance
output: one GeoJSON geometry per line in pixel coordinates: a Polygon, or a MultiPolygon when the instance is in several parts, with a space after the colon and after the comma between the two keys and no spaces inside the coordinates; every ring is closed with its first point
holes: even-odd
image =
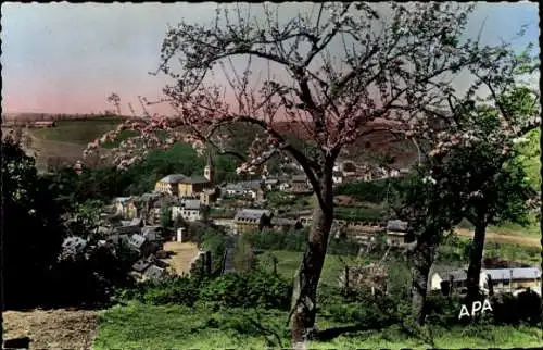
{"type": "Polygon", "coordinates": [[[92,349],[98,311],[33,310],[3,313],[4,339],[30,338],[30,349],[92,349]]]}

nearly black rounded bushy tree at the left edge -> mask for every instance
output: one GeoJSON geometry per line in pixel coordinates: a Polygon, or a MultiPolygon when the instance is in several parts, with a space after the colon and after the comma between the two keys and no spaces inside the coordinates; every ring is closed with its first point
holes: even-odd
{"type": "Polygon", "coordinates": [[[66,235],[62,203],[34,159],[11,141],[1,143],[3,292],[7,308],[36,305],[66,235]]]}

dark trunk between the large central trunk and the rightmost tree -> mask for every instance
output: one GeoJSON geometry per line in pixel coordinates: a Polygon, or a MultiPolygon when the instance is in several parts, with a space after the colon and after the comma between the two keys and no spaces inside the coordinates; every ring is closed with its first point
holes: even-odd
{"type": "Polygon", "coordinates": [[[412,257],[412,310],[413,321],[424,325],[427,314],[426,295],[428,279],[438,248],[439,235],[435,233],[422,234],[412,257]]]}

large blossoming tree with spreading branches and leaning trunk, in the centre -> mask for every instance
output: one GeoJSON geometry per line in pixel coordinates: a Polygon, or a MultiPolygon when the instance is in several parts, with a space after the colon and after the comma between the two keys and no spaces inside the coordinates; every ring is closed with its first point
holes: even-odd
{"type": "Polygon", "coordinates": [[[449,77],[482,63],[492,65],[498,53],[480,48],[478,40],[459,42],[472,7],[388,7],[387,21],[365,3],[323,3],[313,14],[300,13],[287,23],[279,23],[278,13],[268,5],[264,5],[264,21],[244,18],[238,8],[237,23],[228,9],[218,10],[209,27],[180,23],[168,29],[160,66],[176,82],[165,88],[164,99],[175,109],[175,117],[125,123],[104,137],[114,139],[125,128],[141,132],[118,149],[119,167],[178,140],[235,154],[243,161],[240,172],[253,171],[277,153],[302,166],[317,205],[295,280],[291,313],[295,345],[311,336],[315,324],[317,285],[333,220],[332,168],[342,148],[376,130],[402,130],[407,123],[413,125],[409,137],[428,132],[431,107],[441,105],[455,91],[449,77]],[[333,46],[341,57],[331,55],[333,46]],[[238,58],[248,63],[241,73],[233,68],[238,58]],[[252,88],[261,83],[252,75],[254,60],[268,66],[260,89],[252,88]],[[179,72],[174,62],[180,63],[179,72]],[[272,66],[285,79],[273,78],[272,66]],[[210,77],[216,67],[225,73],[233,103],[210,77]],[[288,140],[278,128],[281,117],[291,129],[304,132],[313,151],[288,140]],[[263,137],[255,135],[249,154],[228,149],[224,130],[233,123],[253,125],[263,133],[263,137]],[[171,137],[160,139],[157,129],[171,137]]]}

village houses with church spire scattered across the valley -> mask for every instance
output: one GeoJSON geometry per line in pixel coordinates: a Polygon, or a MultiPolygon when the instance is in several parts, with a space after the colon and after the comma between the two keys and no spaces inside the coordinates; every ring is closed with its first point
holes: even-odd
{"type": "MultiPolygon", "coordinates": [[[[395,177],[405,174],[406,170],[387,171],[377,168],[374,173],[367,168],[358,171],[351,161],[344,161],[334,167],[334,185],[352,180],[370,180],[375,177],[395,177]]],[[[299,170],[301,173],[301,171],[299,170]]],[[[301,230],[312,224],[311,205],[299,210],[285,211],[273,208],[266,200],[269,193],[281,193],[289,198],[303,198],[311,196],[311,184],[305,175],[300,173],[288,175],[262,175],[261,179],[239,183],[214,183],[214,166],[212,157],[207,157],[207,164],[203,176],[186,176],[171,174],[160,179],[152,192],[137,197],[115,198],[112,203],[103,208],[101,224],[97,227],[96,235],[99,245],[115,249],[125,245],[138,252],[139,260],[134,262],[132,276],[140,280],[161,280],[172,275],[185,275],[199,266],[206,264],[210,253],[204,250],[194,251],[190,262],[182,262],[184,268],[173,268],[172,259],[168,258],[182,249],[187,239],[187,225],[200,222],[216,227],[229,236],[239,236],[252,232],[279,230],[283,233],[301,230]],[[161,218],[164,214],[169,216],[174,227],[163,227],[161,218]],[[207,257],[207,258],[205,258],[207,257]]],[[[341,196],[338,196],[341,200],[341,196]]],[[[407,223],[400,220],[366,221],[366,220],[334,220],[333,237],[349,237],[361,248],[382,240],[390,249],[402,247],[413,241],[406,233],[407,223]]],[[[78,238],[66,239],[66,248],[78,245],[85,247],[85,240],[78,238]]],[[[233,249],[229,249],[231,254],[233,249]]],[[[227,263],[230,257],[213,257],[224,259],[227,263]]],[[[179,263],[177,263],[178,265],[179,263]]],[[[510,265],[510,264],[509,264],[510,265]]],[[[541,271],[526,264],[503,266],[497,263],[488,263],[481,270],[480,287],[485,293],[512,292],[517,295],[527,288],[540,293],[541,271]]],[[[351,282],[359,280],[367,285],[368,271],[359,267],[349,267],[342,272],[338,280],[345,284],[345,276],[351,282]]],[[[383,274],[382,271],[374,272],[375,275],[383,274]]],[[[382,276],[386,277],[386,276],[382,276]]],[[[371,279],[371,278],[369,278],[371,279]]],[[[386,278],[377,289],[387,290],[386,278]]],[[[442,291],[445,295],[467,292],[467,265],[463,268],[434,265],[429,278],[429,290],[442,291]]],[[[376,292],[376,288],[371,289],[376,292]]]]}

